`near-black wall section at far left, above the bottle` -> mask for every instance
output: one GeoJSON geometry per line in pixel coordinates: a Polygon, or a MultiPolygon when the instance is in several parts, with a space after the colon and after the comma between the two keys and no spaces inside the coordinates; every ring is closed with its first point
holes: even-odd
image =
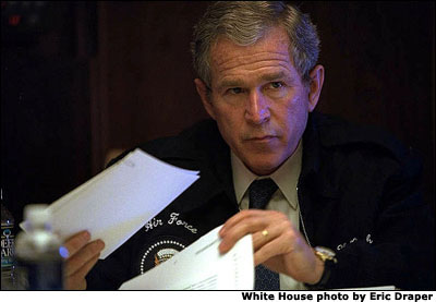
{"type": "Polygon", "coordinates": [[[88,73],[96,8],[1,5],[1,186],[20,221],[25,204],[51,203],[92,174],[88,73]]]}

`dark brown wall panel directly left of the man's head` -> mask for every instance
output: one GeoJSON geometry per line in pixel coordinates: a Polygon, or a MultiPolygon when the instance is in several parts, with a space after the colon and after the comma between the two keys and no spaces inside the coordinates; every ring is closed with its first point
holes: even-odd
{"type": "Polygon", "coordinates": [[[180,132],[206,118],[193,84],[189,44],[206,2],[99,5],[94,170],[111,150],[180,132]],[[104,112],[104,113],[101,113],[104,112]]]}

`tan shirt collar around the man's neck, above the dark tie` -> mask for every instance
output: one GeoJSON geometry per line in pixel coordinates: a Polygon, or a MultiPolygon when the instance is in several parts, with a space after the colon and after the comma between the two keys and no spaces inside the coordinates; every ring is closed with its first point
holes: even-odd
{"type": "Polygon", "coordinates": [[[250,171],[245,165],[231,152],[231,166],[233,173],[233,186],[237,195],[238,204],[242,198],[250,184],[255,179],[271,178],[283,193],[286,200],[293,209],[296,209],[295,189],[298,185],[303,155],[303,143],[300,141],[295,152],[270,176],[258,177],[250,171]]]}

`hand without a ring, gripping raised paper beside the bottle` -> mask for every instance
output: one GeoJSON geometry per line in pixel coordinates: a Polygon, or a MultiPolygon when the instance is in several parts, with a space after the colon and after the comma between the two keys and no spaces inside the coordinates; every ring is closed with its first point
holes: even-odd
{"type": "Polygon", "coordinates": [[[97,263],[105,243],[101,240],[90,240],[88,231],[78,232],[69,238],[63,246],[69,251],[65,262],[65,282],[68,290],[86,289],[86,275],[97,263]]]}

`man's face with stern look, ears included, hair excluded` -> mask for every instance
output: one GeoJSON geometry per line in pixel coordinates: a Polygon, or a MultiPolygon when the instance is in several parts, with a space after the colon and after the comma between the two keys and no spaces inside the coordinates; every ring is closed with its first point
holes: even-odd
{"type": "Polygon", "coordinates": [[[195,80],[223,140],[258,176],[272,173],[292,155],[319,95],[311,98],[315,89],[303,84],[288,48],[281,27],[252,46],[219,37],[210,49],[210,94],[195,80]]]}

